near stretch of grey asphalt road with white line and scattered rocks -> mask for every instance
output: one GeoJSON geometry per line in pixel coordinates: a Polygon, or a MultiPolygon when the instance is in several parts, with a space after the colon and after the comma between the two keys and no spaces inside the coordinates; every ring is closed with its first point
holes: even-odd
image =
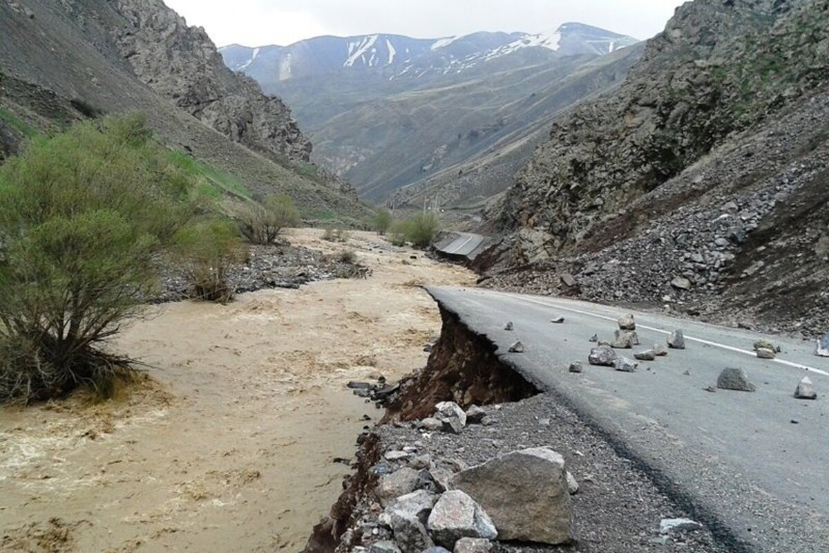
{"type": "Polygon", "coordinates": [[[611,340],[628,310],[481,289],[429,293],[486,334],[502,361],[601,430],[733,551],[829,551],[829,359],[813,355],[814,343],[771,337],[783,352],[761,360],[751,351],[760,337],[754,332],[634,312],[642,346],[619,354],[633,358],[676,329],[687,347],[624,373],[590,366],[587,356],[595,345],[589,337],[611,340]],[[559,316],[565,323],[550,323],[559,316]],[[517,340],[525,352],[509,353],[517,340]],[[572,361],[584,372],[570,373],[572,361]],[[706,391],[729,366],[743,367],[757,390],[706,391]],[[794,399],[803,376],[817,400],[794,399]]]}

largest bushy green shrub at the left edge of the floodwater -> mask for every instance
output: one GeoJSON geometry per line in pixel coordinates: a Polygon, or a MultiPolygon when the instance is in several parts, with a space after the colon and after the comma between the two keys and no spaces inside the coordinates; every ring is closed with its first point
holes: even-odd
{"type": "Polygon", "coordinates": [[[100,346],[151,297],[191,188],[136,115],[34,138],[0,167],[0,401],[128,371],[100,346]]]}

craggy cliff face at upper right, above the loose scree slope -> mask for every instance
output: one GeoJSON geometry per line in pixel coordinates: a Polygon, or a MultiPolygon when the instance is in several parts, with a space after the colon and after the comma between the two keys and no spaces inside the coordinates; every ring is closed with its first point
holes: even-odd
{"type": "Polygon", "coordinates": [[[557,121],[499,222],[548,251],[676,177],[829,77],[827,2],[696,0],[613,96],[557,121]],[[525,234],[526,231],[525,231],[525,234]]]}

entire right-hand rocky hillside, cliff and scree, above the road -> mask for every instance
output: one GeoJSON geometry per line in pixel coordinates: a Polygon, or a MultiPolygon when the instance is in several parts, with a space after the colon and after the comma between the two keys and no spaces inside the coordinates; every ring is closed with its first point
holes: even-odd
{"type": "Polygon", "coordinates": [[[825,332],[827,29],[827,0],[681,7],[521,171],[490,284],[825,332]]]}

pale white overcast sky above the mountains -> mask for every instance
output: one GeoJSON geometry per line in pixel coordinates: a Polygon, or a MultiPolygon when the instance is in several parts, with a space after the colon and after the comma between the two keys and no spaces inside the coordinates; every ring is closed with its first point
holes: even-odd
{"type": "Polygon", "coordinates": [[[164,0],[216,46],[286,46],[320,35],[424,38],[553,31],[582,22],[645,39],[683,0],[164,0]]]}

